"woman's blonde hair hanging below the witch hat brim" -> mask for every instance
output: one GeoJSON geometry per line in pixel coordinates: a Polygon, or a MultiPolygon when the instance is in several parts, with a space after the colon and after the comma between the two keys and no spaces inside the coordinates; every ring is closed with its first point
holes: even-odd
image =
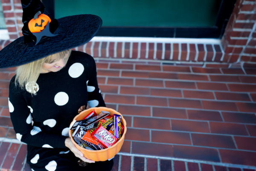
{"type": "Polygon", "coordinates": [[[21,89],[24,89],[25,86],[27,86],[27,88],[32,90],[29,93],[36,95],[36,92],[34,91],[34,86],[36,84],[36,81],[38,80],[38,77],[40,75],[43,64],[52,62],[53,60],[58,61],[58,60],[64,58],[65,66],[66,66],[67,61],[70,57],[70,54],[71,54],[71,49],[64,50],[64,51],[49,55],[47,57],[44,57],[42,59],[38,59],[34,62],[30,62],[28,64],[24,64],[24,65],[17,67],[15,86],[17,86],[17,84],[19,84],[19,87],[21,89]],[[67,53],[69,53],[68,57],[64,58],[67,53]],[[29,83],[29,84],[26,85],[27,83],[29,83]]]}

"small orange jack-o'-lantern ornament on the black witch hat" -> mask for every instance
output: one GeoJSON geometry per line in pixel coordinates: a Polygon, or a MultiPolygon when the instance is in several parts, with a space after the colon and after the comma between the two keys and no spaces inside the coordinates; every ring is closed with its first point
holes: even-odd
{"type": "Polygon", "coordinates": [[[41,11],[38,11],[34,16],[34,19],[29,21],[29,31],[31,31],[31,33],[41,32],[48,22],[51,22],[50,17],[41,14],[41,11]]]}

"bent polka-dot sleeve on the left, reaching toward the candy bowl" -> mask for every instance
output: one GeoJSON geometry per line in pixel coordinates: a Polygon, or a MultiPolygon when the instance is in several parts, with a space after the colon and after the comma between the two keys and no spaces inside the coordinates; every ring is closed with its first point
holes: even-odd
{"type": "MultiPolygon", "coordinates": [[[[18,86],[17,86],[18,87],[18,86]]],[[[18,90],[13,81],[9,89],[9,110],[16,137],[21,142],[31,146],[45,148],[67,148],[62,135],[53,135],[42,132],[37,126],[33,126],[33,109],[28,106],[23,91],[18,90]]]]}

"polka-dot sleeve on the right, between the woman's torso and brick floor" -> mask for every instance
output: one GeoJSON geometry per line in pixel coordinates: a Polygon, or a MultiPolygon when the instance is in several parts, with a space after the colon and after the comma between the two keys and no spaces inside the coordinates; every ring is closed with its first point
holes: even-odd
{"type": "Polygon", "coordinates": [[[99,90],[98,86],[96,63],[93,57],[91,58],[93,67],[90,73],[90,78],[86,81],[88,92],[88,104],[90,107],[106,107],[105,102],[102,98],[101,91],[99,90]]]}

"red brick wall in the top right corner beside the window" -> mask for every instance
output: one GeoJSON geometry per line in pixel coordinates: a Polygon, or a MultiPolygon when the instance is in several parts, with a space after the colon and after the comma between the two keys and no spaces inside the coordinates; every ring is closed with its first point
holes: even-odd
{"type": "Polygon", "coordinates": [[[222,45],[224,61],[256,62],[256,0],[237,0],[222,45]]]}

